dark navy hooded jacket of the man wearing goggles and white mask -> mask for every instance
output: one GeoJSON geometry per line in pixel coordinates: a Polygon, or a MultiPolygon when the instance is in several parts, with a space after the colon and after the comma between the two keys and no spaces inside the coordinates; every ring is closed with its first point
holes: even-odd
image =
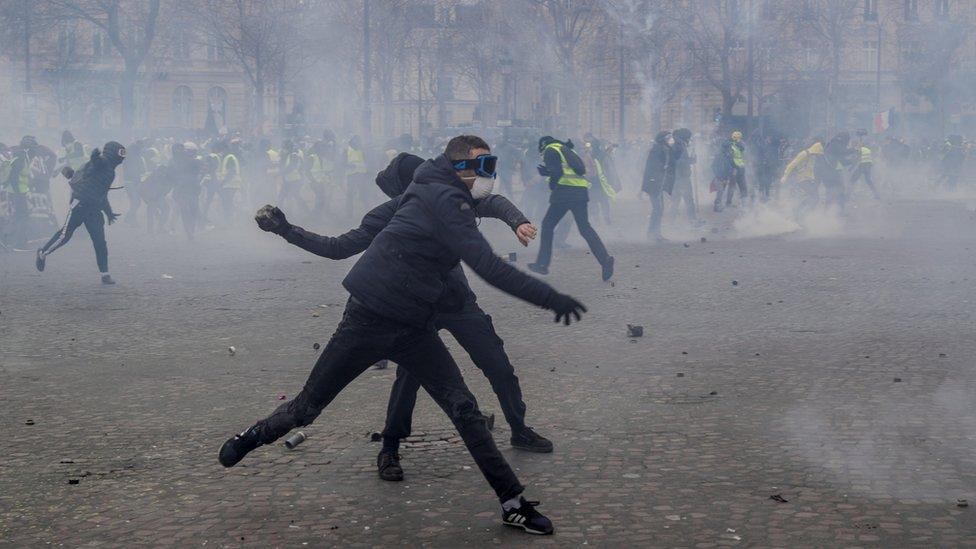
{"type": "Polygon", "coordinates": [[[471,192],[447,157],[424,162],[395,200],[393,218],[342,282],[363,306],[404,324],[429,326],[436,313],[464,303],[457,293],[463,288],[450,283],[459,261],[508,294],[550,304],[555,291],[548,284],[495,255],[478,230],[471,192]]]}

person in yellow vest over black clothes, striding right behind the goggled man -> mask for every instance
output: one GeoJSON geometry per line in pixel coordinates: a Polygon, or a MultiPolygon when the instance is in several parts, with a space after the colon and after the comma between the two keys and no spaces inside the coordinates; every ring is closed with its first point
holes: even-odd
{"type": "Polygon", "coordinates": [[[573,151],[572,141],[563,143],[548,135],[539,139],[539,154],[543,160],[543,164],[539,166],[539,174],[549,179],[551,192],[549,209],[542,219],[539,255],[535,263],[529,263],[529,270],[549,274],[553,233],[559,221],[572,212],[580,236],[586,240],[590,252],[602,267],[603,280],[610,280],[613,276],[613,256],[607,252],[600,235],[590,225],[587,212],[590,182],[585,177],[586,166],[583,165],[583,160],[573,151]]]}

